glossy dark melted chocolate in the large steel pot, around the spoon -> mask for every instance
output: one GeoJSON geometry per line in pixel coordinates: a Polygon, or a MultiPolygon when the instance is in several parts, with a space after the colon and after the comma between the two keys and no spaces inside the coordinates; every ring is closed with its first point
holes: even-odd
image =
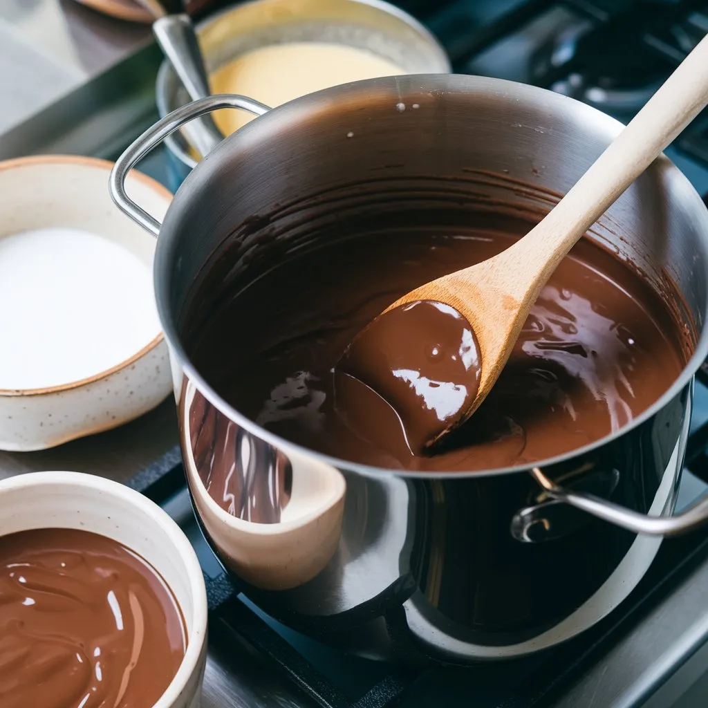
{"type": "MultiPolygon", "coordinates": [[[[336,364],[377,315],[414,287],[491,258],[534,223],[485,219],[464,231],[398,224],[382,232],[372,224],[258,278],[246,271],[249,284],[220,296],[217,308],[221,281],[207,274],[186,322],[196,343],[188,354],[227,401],[268,430],[390,469],[537,462],[603,438],[651,406],[680,375],[685,339],[648,283],[585,239],[542,290],[487,399],[434,455],[413,455],[399,417],[370,389],[343,391],[347,377],[335,375],[336,364]]],[[[419,342],[418,353],[429,344],[419,342]]]]}

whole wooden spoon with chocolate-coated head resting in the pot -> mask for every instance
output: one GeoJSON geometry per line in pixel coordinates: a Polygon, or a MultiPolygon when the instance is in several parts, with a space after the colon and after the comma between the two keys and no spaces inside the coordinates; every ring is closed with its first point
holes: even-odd
{"type": "MultiPolygon", "coordinates": [[[[443,435],[474,413],[495,384],[532,305],[556,266],[607,207],[617,200],[707,103],[708,37],[695,47],[610,147],[523,239],[493,258],[411,290],[384,310],[379,318],[353,340],[338,370],[374,389],[399,413],[404,428],[409,428],[406,421],[416,418],[414,411],[411,413],[406,409],[410,409],[411,405],[420,408],[423,399],[426,419],[421,421],[418,412],[417,421],[413,421],[417,430],[406,430],[413,452],[416,452],[414,447],[418,444],[428,447],[438,442],[443,435]],[[401,343],[406,324],[399,313],[410,309],[401,309],[401,306],[418,301],[452,306],[467,319],[476,337],[481,363],[479,358],[470,358],[473,364],[469,373],[472,382],[467,391],[471,394],[464,400],[458,396],[459,409],[452,413],[450,406],[446,408],[444,405],[438,406],[438,411],[433,411],[435,401],[428,401],[427,394],[421,394],[418,385],[421,379],[418,364],[423,357],[420,353],[411,354],[409,343],[401,343]],[[398,319],[390,320],[392,314],[387,313],[394,309],[398,319]],[[382,329],[389,327],[387,322],[396,328],[395,332],[389,329],[382,333],[382,329]],[[372,346],[375,349],[374,355],[371,353],[372,346]],[[364,347],[368,348],[366,352],[363,351],[364,347]],[[396,350],[394,353],[390,351],[392,347],[396,350]],[[412,365],[405,361],[406,357],[416,356],[418,358],[412,365]],[[399,369],[392,372],[388,364],[381,363],[387,359],[395,360],[399,369]],[[411,377],[418,379],[411,383],[411,377]],[[401,378],[406,380],[401,383],[401,378]]],[[[420,331],[428,326],[426,323],[430,323],[433,316],[435,312],[430,310],[422,313],[418,319],[409,318],[408,323],[412,322],[420,331]]],[[[445,331],[450,332],[455,326],[453,321],[447,325],[443,323],[440,333],[444,336],[445,331]]],[[[430,341],[437,340],[433,338],[430,341]]],[[[443,377],[441,380],[454,393],[455,390],[459,392],[459,389],[464,389],[465,382],[460,380],[459,375],[459,359],[462,357],[452,355],[451,358],[455,361],[447,362],[448,370],[450,365],[458,366],[455,374],[457,380],[454,377],[443,377]]],[[[425,379],[428,385],[431,380],[430,377],[425,379]]],[[[439,401],[440,377],[433,381],[433,385],[436,388],[430,389],[428,393],[432,392],[433,397],[438,396],[439,401]]]]}

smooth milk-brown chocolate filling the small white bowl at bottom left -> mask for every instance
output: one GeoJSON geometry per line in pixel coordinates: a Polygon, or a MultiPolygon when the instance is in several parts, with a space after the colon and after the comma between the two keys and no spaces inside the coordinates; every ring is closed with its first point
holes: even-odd
{"type": "Polygon", "coordinates": [[[152,708],[185,644],[171,590],[117,542],[72,529],[0,538],[3,708],[152,708]]]}

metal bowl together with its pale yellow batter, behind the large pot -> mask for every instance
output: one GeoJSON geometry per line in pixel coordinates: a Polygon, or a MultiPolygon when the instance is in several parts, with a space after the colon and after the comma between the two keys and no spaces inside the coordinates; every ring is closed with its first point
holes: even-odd
{"type": "MultiPolygon", "coordinates": [[[[270,108],[350,81],[402,74],[447,74],[438,40],[411,17],[380,0],[251,0],[197,26],[212,93],[237,93],[270,108]]],[[[160,67],[160,115],[189,103],[169,62],[160,67]]],[[[230,135],[253,120],[222,110],[214,120],[230,135]]],[[[181,176],[198,153],[177,133],[166,141],[181,176]]]]}

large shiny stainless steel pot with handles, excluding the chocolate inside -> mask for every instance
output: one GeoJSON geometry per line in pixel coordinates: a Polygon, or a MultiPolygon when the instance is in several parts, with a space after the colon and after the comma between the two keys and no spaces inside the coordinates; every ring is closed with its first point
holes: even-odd
{"type": "MultiPolygon", "coordinates": [[[[206,264],[219,263],[228,284],[273,249],[287,258],[336,239],[336,220],[374,193],[372,210],[397,204],[403,214],[401,184],[410,177],[433,180],[439,198],[469,185],[474,170],[486,175],[487,194],[540,214],[549,197],[539,187],[564,193],[619,130],[598,110],[542,89],[406,76],[340,86],[270,112],[246,98],[212,96],[161,120],[118,160],[113,197],[159,232],[156,298],[195,508],[224,566],[265,610],[369,656],[520,656],[597,622],[634,588],[663,535],[708,516],[708,501],[672,516],[693,375],[708,352],[708,211],[667,159],[590,237],[631,258],[655,287],[675,282],[684,301],[676,306],[695,321],[695,355],[631,425],[569,455],[469,475],[400,474],[331,459],[242,416],[186,354],[183,318],[206,264]],[[198,165],[157,223],[127,197],[127,172],[180,125],[224,107],[265,115],[198,165]],[[343,197],[353,182],[359,197],[343,197]],[[396,201],[380,198],[387,190],[396,201]],[[274,207],[278,216],[269,217],[274,207]],[[224,466],[239,479],[234,514],[201,481],[224,466]]],[[[450,219],[462,224],[466,203],[457,198],[450,219]]]]}

